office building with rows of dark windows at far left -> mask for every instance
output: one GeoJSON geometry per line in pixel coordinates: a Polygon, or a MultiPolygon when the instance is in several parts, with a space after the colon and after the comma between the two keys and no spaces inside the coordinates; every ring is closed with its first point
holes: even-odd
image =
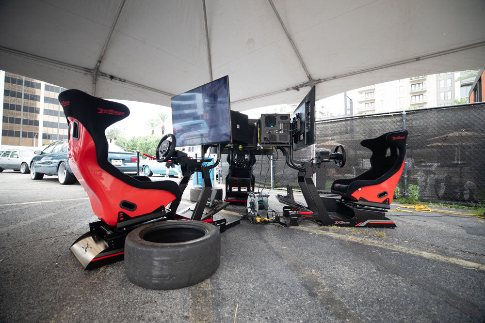
{"type": "Polygon", "coordinates": [[[66,89],[0,71],[0,146],[40,147],[66,139],[68,124],[57,96],[66,89]]]}

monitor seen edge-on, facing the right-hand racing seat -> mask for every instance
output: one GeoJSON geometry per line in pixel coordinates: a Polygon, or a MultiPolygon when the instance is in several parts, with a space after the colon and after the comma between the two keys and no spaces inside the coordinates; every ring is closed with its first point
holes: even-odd
{"type": "Polygon", "coordinates": [[[293,150],[315,143],[315,86],[291,114],[293,150]]]}

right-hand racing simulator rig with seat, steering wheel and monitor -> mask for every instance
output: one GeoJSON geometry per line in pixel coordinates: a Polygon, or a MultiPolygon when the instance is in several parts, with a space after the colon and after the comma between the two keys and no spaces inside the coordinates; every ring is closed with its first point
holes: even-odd
{"type": "Polygon", "coordinates": [[[277,195],[286,204],[283,216],[290,218],[290,225],[298,225],[299,217],[316,221],[321,225],[388,227],[396,224],[385,214],[392,202],[394,189],[401,177],[406,154],[407,130],[388,132],[378,138],[362,140],[361,145],[371,149],[371,169],[350,179],[338,179],[332,184],[332,193],[320,195],[313,183],[313,174],[322,163],[334,161],[343,167],[345,148],[338,145],[333,152],[316,153],[313,160],[295,161],[293,151],[315,143],[315,87],[313,87],[291,116],[291,145],[286,163],[298,170],[298,185],[307,205],[294,200],[292,188],[287,195],[277,195]],[[387,155],[390,152],[390,155],[387,155]]]}

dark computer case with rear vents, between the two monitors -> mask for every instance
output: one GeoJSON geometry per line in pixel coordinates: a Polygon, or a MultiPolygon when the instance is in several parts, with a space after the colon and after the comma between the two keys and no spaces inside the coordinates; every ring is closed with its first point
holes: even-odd
{"type": "Polygon", "coordinates": [[[259,121],[259,141],[261,144],[289,144],[290,114],[261,114],[259,121]]]}

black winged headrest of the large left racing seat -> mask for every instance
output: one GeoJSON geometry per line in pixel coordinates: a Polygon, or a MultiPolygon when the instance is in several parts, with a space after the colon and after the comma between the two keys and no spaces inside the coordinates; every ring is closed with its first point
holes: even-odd
{"type": "Polygon", "coordinates": [[[92,131],[104,133],[107,127],[129,116],[129,108],[124,104],[103,100],[79,90],[61,92],[59,102],[65,116],[77,119],[92,136],[92,131]]]}

